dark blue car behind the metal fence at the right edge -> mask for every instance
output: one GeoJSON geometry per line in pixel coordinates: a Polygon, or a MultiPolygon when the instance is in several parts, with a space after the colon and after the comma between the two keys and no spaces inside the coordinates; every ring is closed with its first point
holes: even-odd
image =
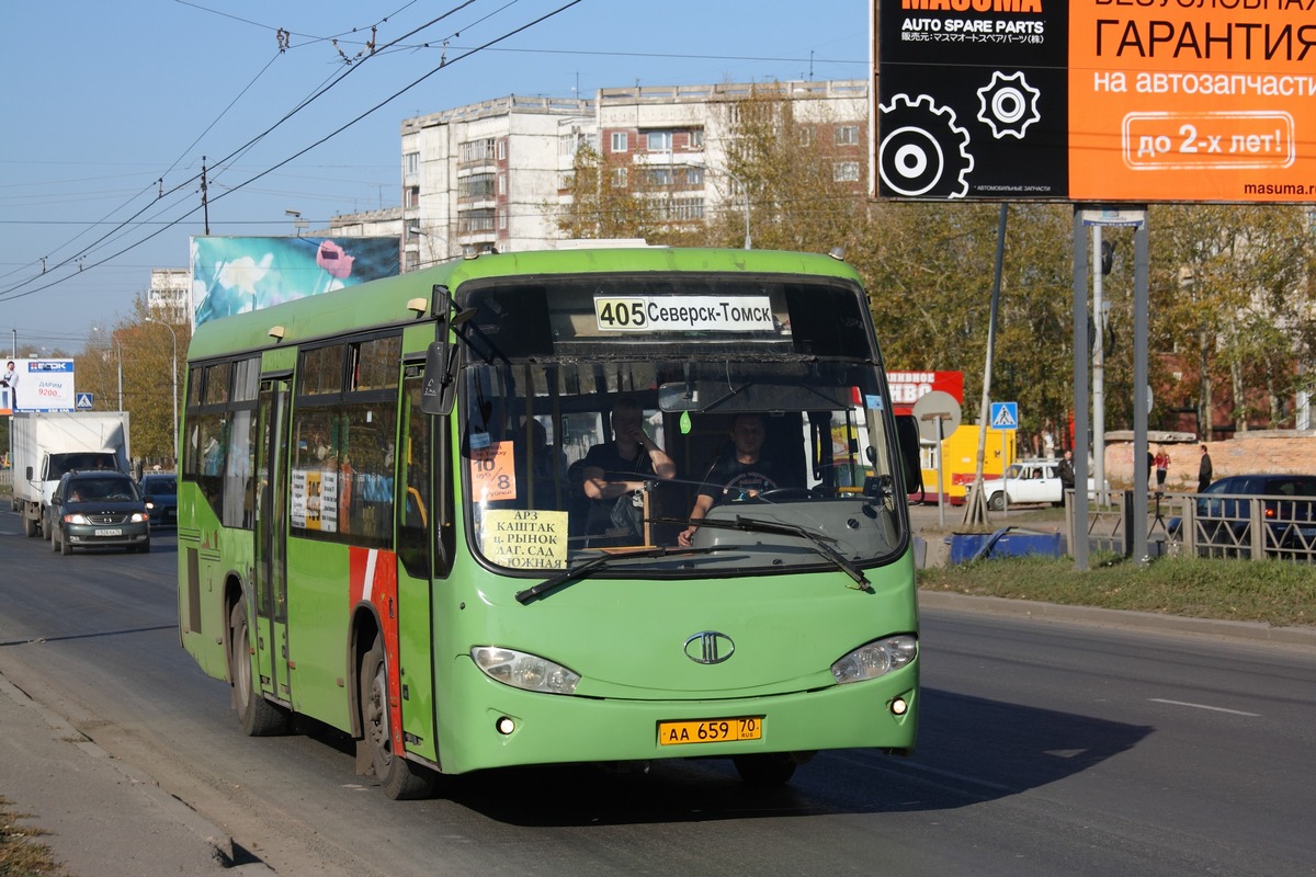
{"type": "MultiPolygon", "coordinates": [[[[1263,548],[1274,551],[1316,550],[1316,475],[1230,475],[1213,481],[1194,502],[1199,544],[1227,550],[1252,546],[1252,505],[1261,500],[1266,523],[1263,548]]],[[[1166,529],[1180,538],[1183,521],[1170,518],[1166,529]]]]}

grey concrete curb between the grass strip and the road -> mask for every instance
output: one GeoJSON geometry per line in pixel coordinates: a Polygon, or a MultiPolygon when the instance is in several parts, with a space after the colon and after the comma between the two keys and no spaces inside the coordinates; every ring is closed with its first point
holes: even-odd
{"type": "Polygon", "coordinates": [[[1012,618],[1034,618],[1101,627],[1125,627],[1195,636],[1219,636],[1267,646],[1316,648],[1316,627],[1271,627],[1262,622],[1184,618],[1128,609],[1067,606],[1008,597],[979,597],[948,590],[919,590],[920,609],[946,609],[1012,618]]]}

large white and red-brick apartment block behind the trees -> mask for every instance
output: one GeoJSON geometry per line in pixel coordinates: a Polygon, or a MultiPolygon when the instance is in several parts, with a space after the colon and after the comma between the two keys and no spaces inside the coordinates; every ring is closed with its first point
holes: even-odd
{"type": "Polygon", "coordinates": [[[837,180],[866,191],[865,80],[637,85],[603,88],[594,100],[500,97],[401,122],[403,271],[470,252],[554,246],[562,238],[557,210],[572,197],[582,145],[603,156],[605,184],[661,193],[663,218],[674,225],[744,210],[726,156],[738,113],[755,95],[790,99],[807,145],[833,156],[837,180]]]}

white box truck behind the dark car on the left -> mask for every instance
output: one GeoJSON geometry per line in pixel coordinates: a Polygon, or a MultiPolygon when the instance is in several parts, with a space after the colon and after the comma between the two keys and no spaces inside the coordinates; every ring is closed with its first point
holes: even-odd
{"type": "Polygon", "coordinates": [[[13,510],[37,535],[50,494],[64,472],[129,472],[128,412],[28,412],[13,415],[13,510]]]}

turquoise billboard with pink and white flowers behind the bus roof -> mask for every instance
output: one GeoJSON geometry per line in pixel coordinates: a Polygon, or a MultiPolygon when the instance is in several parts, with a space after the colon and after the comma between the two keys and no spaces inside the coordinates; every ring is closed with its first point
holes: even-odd
{"type": "Polygon", "coordinates": [[[192,326],[399,272],[396,237],[192,238],[192,326]]]}

